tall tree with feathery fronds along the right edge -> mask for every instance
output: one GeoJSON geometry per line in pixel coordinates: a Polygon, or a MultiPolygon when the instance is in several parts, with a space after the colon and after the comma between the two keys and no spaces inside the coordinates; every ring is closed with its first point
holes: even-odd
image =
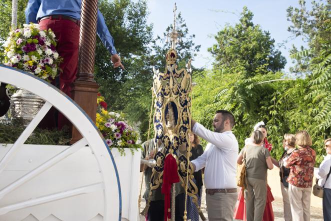
{"type": "MultiPolygon", "coordinates": [[[[299,0],[299,7],[287,9],[287,19],[292,22],[288,30],[307,40],[308,47],[291,49],[296,61],[292,71],[301,71],[307,80],[308,90],[304,95],[312,103],[311,130],[314,135],[331,135],[331,1],[312,1],[312,8],[305,7],[299,0]]],[[[319,138],[320,139],[320,138],[319,138]]]]}

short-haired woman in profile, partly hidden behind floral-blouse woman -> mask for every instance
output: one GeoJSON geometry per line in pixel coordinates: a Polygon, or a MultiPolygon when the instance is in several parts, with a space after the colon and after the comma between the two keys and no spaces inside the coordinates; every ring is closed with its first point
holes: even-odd
{"type": "Polygon", "coordinates": [[[289,168],[286,168],[283,165],[283,160],[289,157],[290,154],[295,150],[295,135],[291,133],[285,133],[284,139],[282,140],[282,146],[284,148],[284,152],[281,154],[280,159],[275,160],[271,157],[271,160],[275,166],[279,167],[280,190],[284,209],[284,220],[291,221],[292,214],[288,198],[288,182],[286,181],[289,175],[289,168]]]}

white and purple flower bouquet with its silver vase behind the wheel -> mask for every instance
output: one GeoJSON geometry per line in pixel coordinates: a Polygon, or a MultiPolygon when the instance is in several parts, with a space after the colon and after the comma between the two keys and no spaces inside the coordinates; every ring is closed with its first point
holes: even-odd
{"type": "MultiPolygon", "coordinates": [[[[40,30],[38,24],[23,24],[9,32],[3,43],[5,65],[29,72],[48,82],[59,72],[62,58],[56,52],[56,38],[51,29],[40,30]]],[[[11,118],[27,125],[44,100],[23,89],[8,85],[11,118]]]]}

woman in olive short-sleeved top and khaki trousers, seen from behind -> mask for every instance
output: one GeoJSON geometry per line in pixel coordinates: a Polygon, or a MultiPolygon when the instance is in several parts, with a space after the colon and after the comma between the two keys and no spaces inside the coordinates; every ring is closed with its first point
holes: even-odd
{"type": "Polygon", "coordinates": [[[252,144],[246,144],[241,149],[237,163],[245,162],[247,188],[245,189],[246,220],[262,220],[266,203],[267,169],[273,164],[269,151],[261,146],[263,134],[259,130],[251,134],[252,144]]]}

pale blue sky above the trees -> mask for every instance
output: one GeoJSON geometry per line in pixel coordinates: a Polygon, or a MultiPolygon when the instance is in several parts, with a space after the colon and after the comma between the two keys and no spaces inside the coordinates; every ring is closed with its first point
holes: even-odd
{"type": "MultiPolygon", "coordinates": [[[[305,45],[300,37],[289,40],[282,47],[284,40],[291,34],[287,31],[290,22],[286,19],[288,6],[298,6],[298,0],[148,0],[150,14],[148,23],[153,23],[154,36],[162,35],[165,28],[173,21],[174,2],[177,12],[180,11],[185,20],[189,34],[195,34],[195,44],[201,44],[200,51],[192,64],[196,67],[210,68],[212,56],[207,48],[214,44],[214,35],[226,23],[234,25],[239,20],[243,6],[247,6],[254,14],[253,23],[260,24],[262,30],[268,30],[275,40],[276,47],[286,57],[287,63],[284,71],[292,65],[288,49],[292,44],[305,45]]],[[[310,1],[307,0],[307,7],[310,1]]]]}

